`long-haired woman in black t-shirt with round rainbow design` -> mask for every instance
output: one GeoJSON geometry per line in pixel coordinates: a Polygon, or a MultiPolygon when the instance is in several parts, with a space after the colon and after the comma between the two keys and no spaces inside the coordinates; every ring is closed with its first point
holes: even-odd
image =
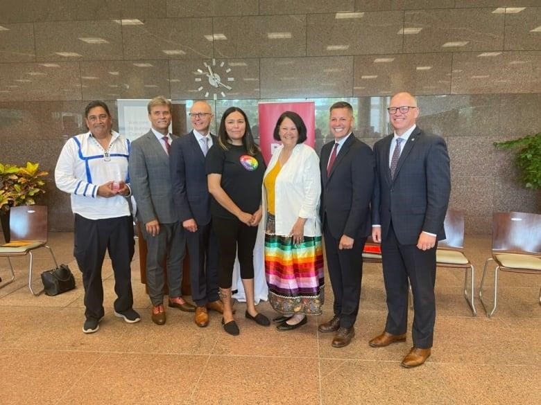
{"type": "Polygon", "coordinates": [[[212,227],[218,238],[218,285],[223,300],[225,332],[239,334],[231,305],[231,285],[237,248],[246,293],[246,318],[271,324],[254,304],[253,251],[261,220],[261,183],[265,161],[254,143],[248,117],[238,107],[223,113],[218,143],[207,154],[207,181],[212,194],[212,227]]]}

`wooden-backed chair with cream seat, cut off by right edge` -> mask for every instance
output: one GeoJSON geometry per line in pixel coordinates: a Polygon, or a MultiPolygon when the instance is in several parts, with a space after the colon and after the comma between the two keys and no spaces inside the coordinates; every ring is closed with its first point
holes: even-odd
{"type": "MultiPolygon", "coordinates": [[[[483,269],[479,299],[488,317],[497,307],[498,271],[541,274],[541,215],[530,213],[494,213],[492,215],[492,258],[488,258],[483,269]],[[496,264],[494,270],[494,307],[488,312],[483,301],[488,262],[496,264]]],[[[541,305],[541,289],[539,291],[541,305]]]]}

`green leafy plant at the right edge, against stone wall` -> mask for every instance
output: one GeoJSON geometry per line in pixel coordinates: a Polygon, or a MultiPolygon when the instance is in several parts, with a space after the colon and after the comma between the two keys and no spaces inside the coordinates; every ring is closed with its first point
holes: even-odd
{"type": "Polygon", "coordinates": [[[515,165],[522,185],[531,190],[541,189],[541,132],[510,141],[495,142],[500,149],[515,149],[515,165]]]}

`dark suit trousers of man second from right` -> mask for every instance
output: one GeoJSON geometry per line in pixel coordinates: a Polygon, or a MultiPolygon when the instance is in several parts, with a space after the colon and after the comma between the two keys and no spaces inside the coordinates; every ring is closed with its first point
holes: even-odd
{"type": "Polygon", "coordinates": [[[357,238],[352,249],[338,249],[336,239],[325,222],[325,257],[334,294],[334,315],[340,317],[341,327],[352,327],[359,314],[361,282],[363,280],[363,249],[366,237],[357,238]]]}

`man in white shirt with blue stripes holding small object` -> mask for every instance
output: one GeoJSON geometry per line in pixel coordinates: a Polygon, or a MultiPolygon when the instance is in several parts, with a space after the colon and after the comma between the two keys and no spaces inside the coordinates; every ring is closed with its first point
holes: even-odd
{"type": "Polygon", "coordinates": [[[92,101],[85,109],[89,132],[70,138],[55,168],[56,186],[71,195],[74,222],[74,256],[83,273],[85,323],[93,333],[105,315],[101,267],[108,251],[114,272],[114,315],[128,323],[141,321],[132,308],[130,262],[135,242],[133,221],[126,197],[130,143],[112,131],[108,106],[92,101]]]}

